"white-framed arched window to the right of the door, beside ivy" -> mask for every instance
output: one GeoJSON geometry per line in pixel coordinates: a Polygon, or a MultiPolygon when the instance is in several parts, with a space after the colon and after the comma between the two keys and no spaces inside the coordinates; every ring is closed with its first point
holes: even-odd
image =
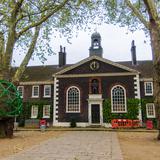
{"type": "Polygon", "coordinates": [[[111,89],[112,112],[127,112],[126,90],[124,87],[117,85],[111,89]]]}

